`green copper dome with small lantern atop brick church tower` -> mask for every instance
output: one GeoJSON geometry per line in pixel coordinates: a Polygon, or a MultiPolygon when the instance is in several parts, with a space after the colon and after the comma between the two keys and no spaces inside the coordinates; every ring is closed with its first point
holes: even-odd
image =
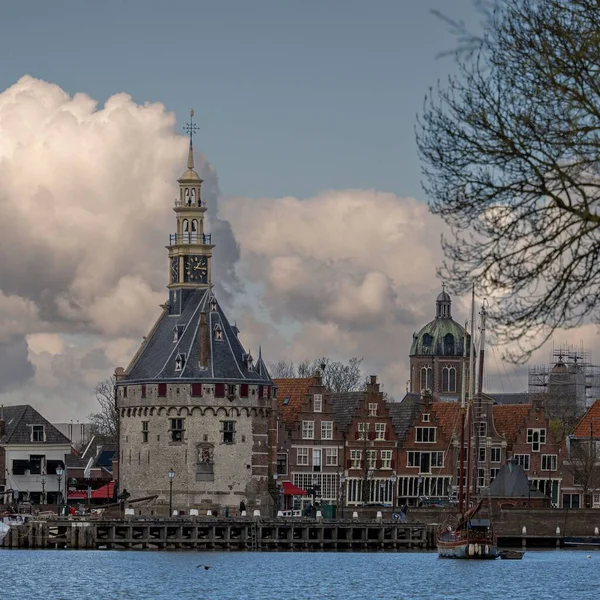
{"type": "MultiPolygon", "coordinates": [[[[452,319],[452,300],[445,290],[439,294],[435,304],[435,319],[419,333],[413,333],[410,356],[462,356],[465,330],[452,319]]],[[[470,340],[471,336],[467,334],[468,345],[470,340]]]]}

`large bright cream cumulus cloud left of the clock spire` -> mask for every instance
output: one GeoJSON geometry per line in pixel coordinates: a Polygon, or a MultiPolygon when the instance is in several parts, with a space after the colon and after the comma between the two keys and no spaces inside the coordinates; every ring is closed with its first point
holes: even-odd
{"type": "MultiPolygon", "coordinates": [[[[130,351],[147,332],[166,298],[164,246],[186,150],[159,103],[117,94],[99,107],[29,76],[0,93],[0,362],[11,365],[0,370],[0,401],[51,405],[62,386],[63,412],[82,416],[90,378],[107,376],[109,355],[125,354],[115,348],[130,351]]],[[[231,237],[216,173],[197,162],[209,221],[231,237]]],[[[236,252],[216,253],[223,290],[240,286],[236,252]]]]}

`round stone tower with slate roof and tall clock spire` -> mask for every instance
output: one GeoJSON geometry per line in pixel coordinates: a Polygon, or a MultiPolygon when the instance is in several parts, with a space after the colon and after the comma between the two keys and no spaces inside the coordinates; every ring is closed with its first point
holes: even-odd
{"type": "MultiPolygon", "coordinates": [[[[193,111],[191,113],[193,117],[193,111]]],[[[119,487],[157,495],[158,510],[268,509],[275,388],[225,316],[212,286],[202,180],[193,134],[170,235],[169,300],[127,369],[116,376],[119,487]],[[171,472],[171,474],[169,474],[171,472]],[[173,475],[174,474],[174,475],[173,475]]]]}

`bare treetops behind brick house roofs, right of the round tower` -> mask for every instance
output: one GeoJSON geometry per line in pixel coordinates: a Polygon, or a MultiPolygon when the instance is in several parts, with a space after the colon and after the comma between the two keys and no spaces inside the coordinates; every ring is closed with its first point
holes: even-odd
{"type": "Polygon", "coordinates": [[[356,392],[365,387],[361,369],[362,358],[350,358],[348,362],[333,361],[324,356],[314,360],[305,359],[295,365],[280,360],[269,365],[273,377],[312,377],[319,372],[323,385],[332,392],[356,392]]]}

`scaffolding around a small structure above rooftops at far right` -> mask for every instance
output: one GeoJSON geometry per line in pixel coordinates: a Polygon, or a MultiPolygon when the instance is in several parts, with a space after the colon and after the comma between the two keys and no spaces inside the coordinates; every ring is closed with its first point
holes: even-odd
{"type": "Polygon", "coordinates": [[[583,348],[553,346],[548,365],[529,368],[528,384],[530,394],[569,395],[585,409],[600,398],[600,367],[583,348]]]}

